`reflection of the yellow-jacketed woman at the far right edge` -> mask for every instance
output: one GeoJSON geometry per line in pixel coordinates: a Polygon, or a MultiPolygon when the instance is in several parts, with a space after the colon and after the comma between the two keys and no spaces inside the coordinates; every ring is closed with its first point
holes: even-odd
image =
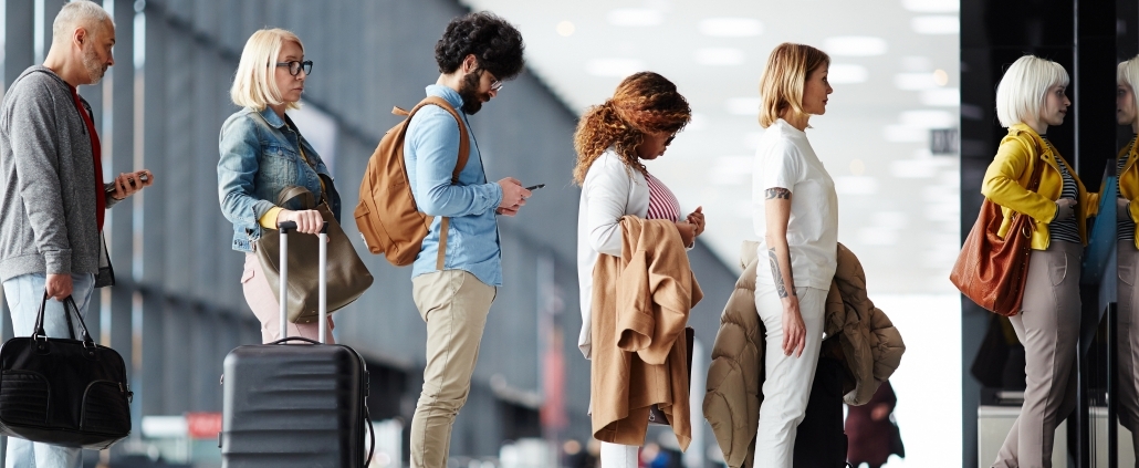
{"type": "MultiPolygon", "coordinates": [[[[1131,128],[1139,134],[1139,57],[1120,64],[1116,72],[1118,88],[1115,92],[1115,116],[1120,125],[1131,128]]],[[[1116,247],[1118,260],[1118,305],[1120,319],[1116,327],[1118,342],[1120,422],[1131,432],[1131,443],[1139,451],[1139,145],[1134,137],[1116,157],[1120,195],[1116,197],[1116,247]]],[[[1136,465],[1139,467],[1139,463],[1136,465]]]]}

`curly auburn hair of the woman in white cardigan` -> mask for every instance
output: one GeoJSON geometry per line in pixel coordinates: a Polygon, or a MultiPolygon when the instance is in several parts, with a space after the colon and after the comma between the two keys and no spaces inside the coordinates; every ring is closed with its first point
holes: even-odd
{"type": "Polygon", "coordinates": [[[645,164],[637,156],[637,147],[646,133],[677,133],[693,118],[688,100],[677,91],[669,79],[653,72],[634,73],[617,85],[613,98],[591,107],[577,122],[573,146],[577,164],[573,180],[585,183],[589,166],[606,149],[624,161],[630,171],[645,173],[645,164]]]}

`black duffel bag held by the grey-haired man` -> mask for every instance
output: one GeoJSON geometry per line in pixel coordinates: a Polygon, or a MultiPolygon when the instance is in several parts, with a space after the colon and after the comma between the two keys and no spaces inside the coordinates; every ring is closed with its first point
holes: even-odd
{"type": "Polygon", "coordinates": [[[103,450],[131,433],[132,393],[115,350],[91,340],[75,301],[64,301],[71,338],[43,331],[47,292],[31,337],[0,346],[0,434],[54,445],[103,450]],[[69,306],[69,309],[68,309],[69,306]],[[75,339],[71,310],[79,317],[75,339]]]}

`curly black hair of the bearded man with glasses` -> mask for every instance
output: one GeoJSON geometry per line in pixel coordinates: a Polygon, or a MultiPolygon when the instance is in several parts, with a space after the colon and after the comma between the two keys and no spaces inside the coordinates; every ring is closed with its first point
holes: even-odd
{"type": "Polygon", "coordinates": [[[440,73],[448,74],[474,54],[478,68],[506,81],[518,76],[526,65],[522,33],[490,11],[470,13],[446,25],[443,38],[435,43],[435,61],[440,73]]]}

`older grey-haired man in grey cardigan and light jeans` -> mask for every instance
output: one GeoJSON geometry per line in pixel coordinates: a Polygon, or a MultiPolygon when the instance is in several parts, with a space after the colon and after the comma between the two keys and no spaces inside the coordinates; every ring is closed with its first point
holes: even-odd
{"type": "MultiPolygon", "coordinates": [[[[16,336],[31,336],[40,304],[43,328],[67,336],[63,301],[87,313],[91,292],[114,282],[104,214],[154,183],[142,170],[103,180],[91,106],[76,87],[95,84],[114,65],[115,24],[99,5],[75,0],[51,27],[43,65],[17,77],[0,102],[0,281],[16,336]]],[[[77,468],[80,449],[9,438],[7,468],[77,468]]]]}

